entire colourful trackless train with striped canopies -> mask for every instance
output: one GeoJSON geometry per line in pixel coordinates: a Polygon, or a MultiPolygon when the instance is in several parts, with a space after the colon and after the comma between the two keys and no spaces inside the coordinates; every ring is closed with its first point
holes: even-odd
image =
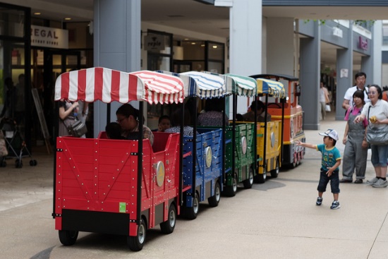
{"type": "Polygon", "coordinates": [[[108,68],[61,74],[56,101],[184,107],[188,98],[211,102],[230,96],[234,110],[229,125],[197,126],[194,119],[193,135],[183,135],[183,126],[181,133],[154,132],[152,145],[140,134],[138,140],[108,139],[105,132],[97,138],[58,137],[52,215],[61,243],[73,245],[79,231],[121,234],[132,251],[140,251],[147,229],[159,224],[162,233],[170,234],[178,215],[197,217],[200,202],[216,207],[221,193],[236,195],[239,183],[251,188],[254,181],[265,182],[267,173],[277,177],[284,164],[296,167],[304,150],[293,141],[305,138],[299,85],[296,78],[273,76],[108,68]],[[291,82],[288,96],[279,79],[291,82]],[[265,99],[272,121],[238,121],[238,96],[265,99]]]}

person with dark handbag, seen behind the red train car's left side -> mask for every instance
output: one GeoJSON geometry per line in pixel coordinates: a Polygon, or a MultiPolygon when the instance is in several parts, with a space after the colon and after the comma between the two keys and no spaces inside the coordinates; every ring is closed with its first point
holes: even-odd
{"type": "Polygon", "coordinates": [[[78,102],[59,102],[59,131],[58,135],[70,135],[68,127],[75,123],[78,114],[78,102]]]}

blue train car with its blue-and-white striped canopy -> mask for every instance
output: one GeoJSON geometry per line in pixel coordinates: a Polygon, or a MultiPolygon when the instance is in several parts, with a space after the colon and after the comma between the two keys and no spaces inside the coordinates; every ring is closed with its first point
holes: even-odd
{"type": "MultiPolygon", "coordinates": [[[[224,79],[208,73],[189,71],[171,73],[158,71],[183,80],[185,98],[209,99],[224,97],[224,79]]],[[[196,110],[195,107],[192,107],[196,110]]],[[[197,128],[193,121],[194,135],[183,136],[183,206],[182,214],[195,219],[199,203],[207,200],[216,207],[221,199],[224,183],[223,130],[221,128],[197,128]]]]}

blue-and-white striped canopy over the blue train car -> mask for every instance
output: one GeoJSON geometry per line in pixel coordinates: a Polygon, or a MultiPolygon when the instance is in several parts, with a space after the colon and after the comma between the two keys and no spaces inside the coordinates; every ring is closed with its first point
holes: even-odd
{"type": "Polygon", "coordinates": [[[201,99],[223,97],[226,95],[225,81],[219,76],[197,71],[172,73],[157,71],[181,78],[184,85],[185,97],[200,97],[201,99]]]}

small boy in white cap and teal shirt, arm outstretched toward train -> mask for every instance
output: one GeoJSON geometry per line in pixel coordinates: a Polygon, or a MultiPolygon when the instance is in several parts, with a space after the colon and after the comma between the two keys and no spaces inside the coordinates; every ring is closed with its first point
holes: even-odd
{"type": "Polygon", "coordinates": [[[322,194],[325,193],[327,183],[330,181],[330,187],[334,196],[334,201],[330,209],[337,210],[341,207],[338,202],[339,196],[339,165],[341,164],[341,154],[335,147],[338,140],[338,133],[333,129],[328,129],[323,135],[323,144],[313,145],[296,141],[296,145],[313,148],[322,153],[322,166],[320,169],[320,183],[318,183],[318,198],[317,205],[322,204],[322,194]]]}

